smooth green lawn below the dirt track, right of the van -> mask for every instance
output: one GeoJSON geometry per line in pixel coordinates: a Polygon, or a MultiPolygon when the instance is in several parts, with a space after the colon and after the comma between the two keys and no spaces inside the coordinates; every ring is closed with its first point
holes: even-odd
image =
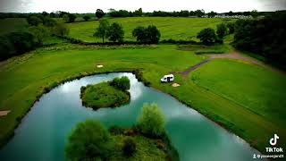
{"type": "Polygon", "coordinates": [[[214,60],[198,68],[191,79],[199,86],[226,97],[269,121],[285,124],[286,75],[256,65],[214,60]],[[277,101],[280,100],[280,101],[277,101]]]}

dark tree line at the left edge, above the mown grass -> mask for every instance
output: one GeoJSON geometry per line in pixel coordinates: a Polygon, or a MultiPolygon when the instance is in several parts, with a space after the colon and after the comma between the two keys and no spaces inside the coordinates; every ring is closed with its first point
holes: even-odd
{"type": "Polygon", "coordinates": [[[63,22],[55,21],[42,14],[30,14],[27,21],[28,30],[0,36],[0,61],[29,52],[36,47],[42,47],[44,41],[51,36],[63,37],[69,33],[69,29],[63,22]]]}

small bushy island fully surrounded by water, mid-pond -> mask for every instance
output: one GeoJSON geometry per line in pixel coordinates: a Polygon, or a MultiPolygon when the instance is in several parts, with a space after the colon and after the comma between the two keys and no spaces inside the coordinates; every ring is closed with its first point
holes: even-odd
{"type": "Polygon", "coordinates": [[[116,107],[130,102],[130,80],[128,77],[115,78],[98,84],[80,88],[82,106],[98,109],[116,107]]]}

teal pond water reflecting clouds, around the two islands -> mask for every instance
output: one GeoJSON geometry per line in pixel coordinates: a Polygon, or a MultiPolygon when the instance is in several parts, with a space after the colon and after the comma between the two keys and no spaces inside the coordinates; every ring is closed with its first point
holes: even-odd
{"type": "Polygon", "coordinates": [[[71,129],[86,119],[106,126],[130,127],[144,103],[156,103],[164,112],[166,131],[182,161],[252,160],[256,149],[179,101],[139,82],[128,72],[99,74],[72,80],[52,89],[31,108],[0,151],[0,160],[64,160],[64,145],[71,129]],[[93,111],[81,106],[80,87],[128,76],[130,104],[93,111]]]}

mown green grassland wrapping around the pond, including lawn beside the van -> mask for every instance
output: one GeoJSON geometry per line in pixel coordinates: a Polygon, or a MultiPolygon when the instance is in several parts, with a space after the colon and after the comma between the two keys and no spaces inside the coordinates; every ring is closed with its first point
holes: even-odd
{"type": "Polygon", "coordinates": [[[13,132],[17,120],[26,114],[45,87],[84,72],[137,68],[143,70],[144,79],[151,82],[151,87],[192,106],[260,150],[268,145],[273,132],[280,133],[282,140],[285,138],[282,105],[286,103],[282,91],[286,87],[282,82],[286,76],[282,73],[253,64],[215,60],[191,72],[187,79],[175,75],[181,87],[160,83],[162,75],[185,71],[206,60],[204,55],[195,52],[172,45],[115,48],[63,45],[9,59],[0,64],[0,110],[11,110],[0,119],[0,139],[3,143],[13,132]],[[104,68],[97,68],[96,64],[104,64],[104,68]]]}

